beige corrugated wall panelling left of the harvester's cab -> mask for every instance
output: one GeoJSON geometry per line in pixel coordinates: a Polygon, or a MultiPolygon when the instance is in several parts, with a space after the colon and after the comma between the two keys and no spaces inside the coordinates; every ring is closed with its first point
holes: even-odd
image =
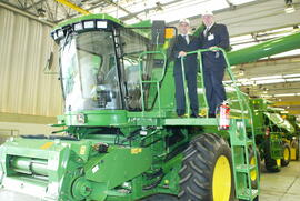
{"type": "Polygon", "coordinates": [[[61,114],[58,74],[44,73],[50,52],[58,70],[51,27],[0,7],[0,112],[61,114]]]}

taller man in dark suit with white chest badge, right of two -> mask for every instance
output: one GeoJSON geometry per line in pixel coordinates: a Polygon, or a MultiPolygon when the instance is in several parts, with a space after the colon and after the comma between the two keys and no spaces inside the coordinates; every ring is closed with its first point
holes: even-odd
{"type": "MultiPolygon", "coordinates": [[[[229,50],[229,34],[227,27],[216,23],[212,12],[202,14],[206,29],[201,33],[202,49],[223,48],[229,50]]],[[[203,80],[206,96],[209,104],[209,117],[216,117],[216,109],[226,100],[226,91],[222,83],[226,69],[226,60],[220,51],[202,53],[203,80]]]]}

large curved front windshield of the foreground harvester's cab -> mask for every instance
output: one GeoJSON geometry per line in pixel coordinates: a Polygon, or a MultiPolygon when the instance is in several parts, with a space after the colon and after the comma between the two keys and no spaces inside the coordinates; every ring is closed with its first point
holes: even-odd
{"type": "Polygon", "coordinates": [[[61,41],[67,111],[121,109],[112,32],[91,31],[61,41]]]}

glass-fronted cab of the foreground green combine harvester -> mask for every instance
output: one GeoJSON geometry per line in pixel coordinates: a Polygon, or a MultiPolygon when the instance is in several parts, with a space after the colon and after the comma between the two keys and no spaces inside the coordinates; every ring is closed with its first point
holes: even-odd
{"type": "MultiPolygon", "coordinates": [[[[140,73],[143,80],[150,80],[166,70],[166,54],[152,52],[164,43],[164,24],[153,24],[126,28],[99,19],[54,30],[66,111],[141,110],[140,73]]],[[[176,29],[169,29],[176,33],[176,29]]],[[[149,94],[149,87],[143,90],[149,94]]],[[[146,102],[151,107],[151,101],[146,102]]]]}

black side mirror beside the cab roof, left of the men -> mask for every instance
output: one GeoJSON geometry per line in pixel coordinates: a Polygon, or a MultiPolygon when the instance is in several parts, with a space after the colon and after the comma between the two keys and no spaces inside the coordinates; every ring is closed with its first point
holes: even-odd
{"type": "Polygon", "coordinates": [[[166,22],[162,20],[153,21],[151,28],[151,44],[164,44],[166,22]]]}

